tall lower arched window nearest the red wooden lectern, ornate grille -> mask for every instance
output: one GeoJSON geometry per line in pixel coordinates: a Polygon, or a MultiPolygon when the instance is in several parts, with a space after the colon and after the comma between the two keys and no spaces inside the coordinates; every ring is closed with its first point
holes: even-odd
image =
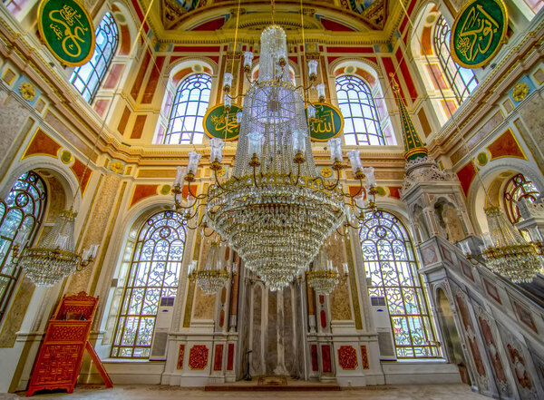
{"type": "Polygon", "coordinates": [[[180,214],[161,211],[141,227],[121,297],[112,357],[147,358],[160,298],[173,298],[185,247],[180,214]]]}

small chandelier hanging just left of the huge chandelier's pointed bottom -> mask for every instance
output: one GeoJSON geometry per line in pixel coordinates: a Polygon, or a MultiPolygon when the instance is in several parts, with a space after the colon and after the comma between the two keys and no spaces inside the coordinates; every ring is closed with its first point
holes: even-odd
{"type": "Polygon", "coordinates": [[[197,261],[189,265],[189,279],[195,279],[197,285],[207,295],[217,293],[228,281],[228,272],[223,269],[219,256],[219,243],[214,241],[209,248],[208,260],[204,269],[197,270],[197,261]]]}

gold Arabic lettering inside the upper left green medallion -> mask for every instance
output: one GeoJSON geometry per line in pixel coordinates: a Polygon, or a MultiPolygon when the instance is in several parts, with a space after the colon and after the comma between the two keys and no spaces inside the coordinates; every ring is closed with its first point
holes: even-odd
{"type": "Polygon", "coordinates": [[[49,13],[49,18],[53,21],[49,27],[57,39],[62,41],[64,53],[71,57],[78,57],[82,54],[82,47],[79,43],[85,42],[83,36],[89,30],[88,26],[82,24],[81,17],[82,15],[78,14],[70,5],[63,5],[60,10],[53,10],[49,13]]]}

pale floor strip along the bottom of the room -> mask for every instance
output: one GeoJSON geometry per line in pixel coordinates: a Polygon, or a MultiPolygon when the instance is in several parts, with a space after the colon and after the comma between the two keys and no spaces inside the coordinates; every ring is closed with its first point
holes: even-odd
{"type": "MultiPolygon", "coordinates": [[[[24,392],[0,394],[0,400],[21,400],[24,392]]],[[[205,392],[164,385],[116,385],[112,389],[101,386],[76,387],[73,394],[52,393],[34,395],[36,399],[59,400],[180,400],[180,399],[364,399],[364,400],[484,400],[483,395],[471,392],[468,385],[384,385],[349,389],[338,392],[205,392]]]]}

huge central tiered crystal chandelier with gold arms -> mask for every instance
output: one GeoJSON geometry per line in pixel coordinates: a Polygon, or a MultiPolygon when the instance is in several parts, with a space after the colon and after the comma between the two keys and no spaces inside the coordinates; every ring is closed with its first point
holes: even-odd
{"type": "MultiPolygon", "coordinates": [[[[244,69],[248,75],[252,59],[253,54],[247,52],[244,69]]],[[[291,83],[286,65],[286,34],[281,27],[272,25],[261,34],[259,76],[257,81],[250,81],[243,112],[238,115],[240,128],[233,173],[227,180],[219,181],[223,141],[216,138],[210,141],[210,169],[216,183],[199,196],[191,192],[189,183],[195,180],[200,159],[199,153],[191,151],[187,168],[178,168],[172,188],[176,210],[186,219],[198,220],[202,214],[197,226],[214,229],[227,239],[245,266],[270,290],[287,287],[306,270],[325,239],[345,221],[346,213],[354,220],[354,212],[347,209],[354,208],[357,216],[363,215],[359,211],[369,207],[362,196],[363,185],[370,184],[364,171],[374,177],[372,169],[363,169],[359,152],[351,152],[348,155],[361,187],[355,196],[343,192],[338,185],[343,168],[340,138],[329,141],[335,181],[325,181],[317,173],[305,112],[306,89],[291,83]],[[181,195],[184,181],[188,182],[187,200],[181,195]],[[347,205],[346,198],[350,200],[347,205]],[[200,206],[205,207],[203,213],[199,212],[200,206]]],[[[308,67],[313,86],[316,60],[311,60],[308,67]]],[[[229,95],[231,82],[232,74],[226,73],[227,113],[234,99],[229,95]]],[[[318,97],[324,101],[325,86],[317,86],[318,97]]],[[[310,122],[316,112],[312,109],[307,109],[310,122]]]]}

